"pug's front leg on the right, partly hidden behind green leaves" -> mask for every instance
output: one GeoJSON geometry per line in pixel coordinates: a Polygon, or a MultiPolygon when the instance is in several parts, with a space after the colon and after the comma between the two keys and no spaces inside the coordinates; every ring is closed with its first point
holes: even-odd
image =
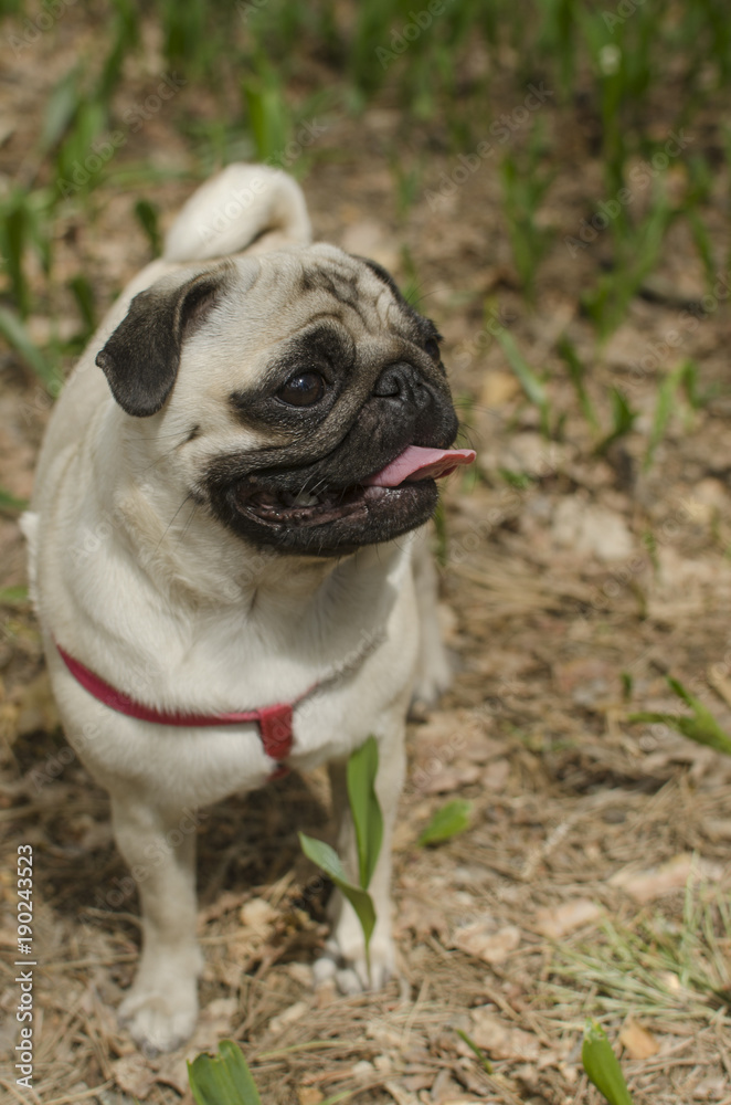
{"type": "MultiPolygon", "coordinates": [[[[316,964],[316,981],[335,975],[340,990],[357,993],[363,989],[379,990],[395,969],[393,945],[393,905],[391,902],[391,842],[399,796],[405,774],[403,712],[393,718],[390,732],[379,739],[379,769],[375,793],[383,813],[383,843],[368,892],[375,907],[375,928],[370,943],[370,978],[366,959],[363,932],[356,911],[338,892],[330,907],[332,936],[326,955],[316,964]]],[[[358,849],[356,831],[348,802],[347,765],[329,765],[332,803],[338,821],[337,849],[351,882],[358,885],[358,849]]]]}

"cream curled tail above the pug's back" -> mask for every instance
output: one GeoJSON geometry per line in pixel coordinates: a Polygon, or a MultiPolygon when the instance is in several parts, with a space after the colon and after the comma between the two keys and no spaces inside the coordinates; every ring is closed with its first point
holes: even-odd
{"type": "Polygon", "coordinates": [[[230,165],[193,192],[168,231],[165,261],[240,253],[264,234],[271,248],[311,241],[305,197],[282,169],[230,165]]]}

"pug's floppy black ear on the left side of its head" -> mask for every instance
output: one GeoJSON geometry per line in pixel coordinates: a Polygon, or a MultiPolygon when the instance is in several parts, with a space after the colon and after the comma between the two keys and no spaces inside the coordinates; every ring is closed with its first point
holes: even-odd
{"type": "Polygon", "coordinates": [[[199,273],[172,287],[163,277],[131,301],[96,355],[112,394],[128,414],[147,418],[160,410],[176,382],[186,330],[213,303],[226,271],[199,273]]]}

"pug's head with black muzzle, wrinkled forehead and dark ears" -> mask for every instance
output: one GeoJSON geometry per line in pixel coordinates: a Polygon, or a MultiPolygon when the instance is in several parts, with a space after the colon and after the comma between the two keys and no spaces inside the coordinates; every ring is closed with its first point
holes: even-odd
{"type": "Polygon", "coordinates": [[[436,329],[373,262],[315,245],[163,277],[97,364],[158,471],[254,546],[338,556],[434,511],[433,480],[364,484],[457,432],[436,329]]]}

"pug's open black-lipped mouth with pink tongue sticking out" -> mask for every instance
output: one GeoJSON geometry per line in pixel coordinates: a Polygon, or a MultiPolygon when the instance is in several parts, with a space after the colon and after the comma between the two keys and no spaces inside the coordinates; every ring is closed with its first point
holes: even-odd
{"type": "Polygon", "coordinates": [[[366,518],[370,512],[396,506],[402,499],[420,499],[427,491],[427,483],[448,475],[459,465],[472,464],[474,459],[470,449],[409,445],[385,467],[349,487],[314,487],[295,493],[242,483],[236,488],[236,507],[257,522],[277,528],[306,529],[342,518],[366,518]]]}

